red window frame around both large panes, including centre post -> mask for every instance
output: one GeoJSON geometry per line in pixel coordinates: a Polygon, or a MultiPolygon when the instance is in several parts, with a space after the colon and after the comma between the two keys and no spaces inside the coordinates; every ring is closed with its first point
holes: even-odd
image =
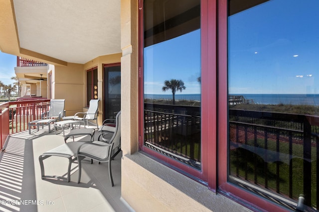
{"type": "Polygon", "coordinates": [[[253,210],[286,211],[228,182],[227,0],[201,0],[201,170],[144,146],[144,8],[139,5],[139,150],[253,210]],[[214,127],[212,127],[214,126],[214,127]]]}

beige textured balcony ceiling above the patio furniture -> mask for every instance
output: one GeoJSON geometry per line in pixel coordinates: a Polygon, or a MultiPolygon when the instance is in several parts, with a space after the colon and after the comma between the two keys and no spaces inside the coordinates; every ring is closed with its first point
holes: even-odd
{"type": "MultiPolygon", "coordinates": [[[[22,55],[65,65],[121,52],[120,0],[13,0],[11,7],[22,55]]],[[[14,53],[9,48],[0,38],[0,50],[14,53]]]]}

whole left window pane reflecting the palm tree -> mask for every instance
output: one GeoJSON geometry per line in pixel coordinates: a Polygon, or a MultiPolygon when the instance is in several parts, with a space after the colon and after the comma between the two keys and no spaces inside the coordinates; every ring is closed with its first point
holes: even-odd
{"type": "Polygon", "coordinates": [[[200,169],[200,0],[144,4],[144,145],[200,169]]]}

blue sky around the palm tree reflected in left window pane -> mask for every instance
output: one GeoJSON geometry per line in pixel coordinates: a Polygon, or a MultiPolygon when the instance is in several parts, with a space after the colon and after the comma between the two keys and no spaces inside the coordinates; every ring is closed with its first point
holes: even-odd
{"type": "Polygon", "coordinates": [[[170,79],[181,79],[186,86],[176,94],[200,93],[200,30],[146,47],[144,55],[144,93],[171,94],[161,90],[170,79]]]}

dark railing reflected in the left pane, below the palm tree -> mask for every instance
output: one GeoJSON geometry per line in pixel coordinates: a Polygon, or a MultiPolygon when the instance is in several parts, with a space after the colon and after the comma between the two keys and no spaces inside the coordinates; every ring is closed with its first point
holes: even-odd
{"type": "Polygon", "coordinates": [[[200,107],[145,103],[145,145],[200,168],[200,107]]]}

